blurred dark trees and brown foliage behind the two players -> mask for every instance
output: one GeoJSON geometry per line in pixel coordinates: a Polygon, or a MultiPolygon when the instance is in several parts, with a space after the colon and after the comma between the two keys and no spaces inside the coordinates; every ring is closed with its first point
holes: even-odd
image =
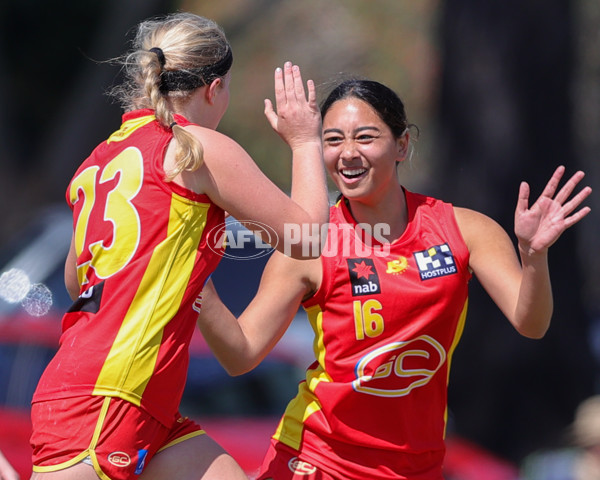
{"type": "MultiPolygon", "coordinates": [[[[283,189],[290,155],[263,99],[286,60],[321,93],[342,75],[395,89],[420,129],[402,183],[509,233],[521,180],[537,197],[564,164],[600,184],[597,0],[22,0],[0,8],[0,244],[64,202],[78,164],[118,128],[104,92],[119,71],[103,62],[128,48],[137,22],[176,10],[224,27],[234,67],[219,129],[283,189]]],[[[551,249],[555,315],[543,340],[520,338],[473,281],[450,428],[515,462],[560,443],[600,388],[598,193],[551,249]]]]}

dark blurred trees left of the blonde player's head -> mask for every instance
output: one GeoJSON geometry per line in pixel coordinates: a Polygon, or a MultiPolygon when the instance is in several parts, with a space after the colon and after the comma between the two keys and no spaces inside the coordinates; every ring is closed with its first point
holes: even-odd
{"type": "Polygon", "coordinates": [[[0,242],[48,202],[63,202],[68,180],[120,123],[103,95],[140,20],[176,2],[25,0],[0,9],[0,242]]]}

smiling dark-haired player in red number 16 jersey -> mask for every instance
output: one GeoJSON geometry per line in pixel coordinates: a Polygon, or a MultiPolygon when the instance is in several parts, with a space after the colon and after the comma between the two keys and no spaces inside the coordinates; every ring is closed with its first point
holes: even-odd
{"type": "Polygon", "coordinates": [[[447,382],[477,276],[524,336],[540,338],[553,301],[548,248],[581,220],[583,173],[558,189],[556,169],[515,211],[519,256],[493,220],[398,182],[409,125],[401,100],[372,81],[346,81],[321,108],[325,165],[341,192],[320,259],[275,253],[239,320],[203,293],[200,328],[233,375],[257,365],[300,303],[315,362],[272,437],[261,480],[442,480],[447,382]],[[520,261],[519,261],[520,257],[520,261]]]}

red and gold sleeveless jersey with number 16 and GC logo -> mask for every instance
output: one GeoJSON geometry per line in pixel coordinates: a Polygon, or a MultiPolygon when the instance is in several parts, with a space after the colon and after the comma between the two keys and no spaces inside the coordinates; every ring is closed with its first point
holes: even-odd
{"type": "Polygon", "coordinates": [[[343,200],[331,208],[322,283],[303,304],[316,361],[274,438],[336,478],[442,479],[469,252],[451,205],[406,199],[391,244],[378,241],[385,225],[357,230],[343,200]]]}

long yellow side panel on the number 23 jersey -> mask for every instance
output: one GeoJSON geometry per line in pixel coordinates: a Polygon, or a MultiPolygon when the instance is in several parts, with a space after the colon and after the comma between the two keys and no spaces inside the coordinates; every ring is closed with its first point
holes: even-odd
{"type": "Polygon", "coordinates": [[[163,329],[177,313],[194,268],[210,204],[176,194],[167,238],[144,276],[98,376],[93,395],[115,395],[139,406],[154,372],[163,329]]]}

